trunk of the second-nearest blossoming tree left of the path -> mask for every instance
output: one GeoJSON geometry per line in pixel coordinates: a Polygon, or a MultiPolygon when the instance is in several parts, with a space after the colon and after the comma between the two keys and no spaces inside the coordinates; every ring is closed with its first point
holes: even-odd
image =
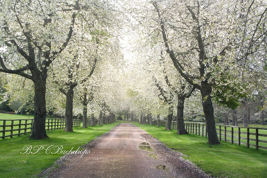
{"type": "Polygon", "coordinates": [[[68,91],[66,92],[66,123],[65,123],[65,132],[73,132],[73,96],[74,96],[74,87],[70,86],[68,91]]]}

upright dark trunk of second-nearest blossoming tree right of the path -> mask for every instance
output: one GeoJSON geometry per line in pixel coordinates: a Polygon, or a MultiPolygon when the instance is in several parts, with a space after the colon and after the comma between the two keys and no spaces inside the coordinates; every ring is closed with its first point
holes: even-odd
{"type": "Polygon", "coordinates": [[[185,98],[180,97],[178,99],[177,117],[176,117],[177,134],[179,135],[188,134],[187,130],[185,129],[185,122],[184,122],[184,104],[185,104],[185,98]]]}

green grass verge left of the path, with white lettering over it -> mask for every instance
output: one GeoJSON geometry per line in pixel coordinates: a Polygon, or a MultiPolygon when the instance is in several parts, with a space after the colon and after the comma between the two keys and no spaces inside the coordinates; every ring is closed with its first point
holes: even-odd
{"type": "MultiPolygon", "coordinates": [[[[66,133],[62,130],[47,131],[49,138],[44,140],[27,139],[29,134],[16,136],[12,139],[0,140],[0,177],[34,177],[42,170],[52,166],[63,154],[46,154],[40,150],[36,154],[20,154],[25,145],[63,145],[62,150],[77,150],[83,144],[90,142],[117,125],[119,122],[88,128],[75,127],[74,132],[66,133]]],[[[80,149],[82,150],[82,149],[80,149]]]]}

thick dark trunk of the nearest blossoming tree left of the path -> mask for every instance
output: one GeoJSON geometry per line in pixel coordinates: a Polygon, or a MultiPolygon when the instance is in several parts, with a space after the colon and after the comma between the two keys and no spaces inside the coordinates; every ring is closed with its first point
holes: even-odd
{"type": "Polygon", "coordinates": [[[44,80],[40,79],[40,77],[36,77],[36,80],[34,81],[34,121],[29,138],[44,139],[48,137],[45,131],[45,91],[46,77],[44,80]]]}

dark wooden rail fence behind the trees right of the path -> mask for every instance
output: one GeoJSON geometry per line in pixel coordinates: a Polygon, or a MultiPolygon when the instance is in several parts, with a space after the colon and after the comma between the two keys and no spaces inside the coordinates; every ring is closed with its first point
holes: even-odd
{"type": "MultiPolygon", "coordinates": [[[[154,121],[156,123],[156,121],[154,121]]],[[[160,120],[160,125],[166,127],[166,120],[160,120]]],[[[171,122],[171,128],[177,129],[177,122],[171,122]]],[[[185,122],[185,128],[188,133],[196,134],[198,136],[207,137],[206,124],[202,122],[185,122]]],[[[216,124],[216,130],[218,137],[224,142],[228,141],[237,143],[238,145],[247,145],[247,148],[256,147],[267,149],[267,128],[256,128],[256,127],[240,127],[232,125],[221,125],[216,124]]]]}

